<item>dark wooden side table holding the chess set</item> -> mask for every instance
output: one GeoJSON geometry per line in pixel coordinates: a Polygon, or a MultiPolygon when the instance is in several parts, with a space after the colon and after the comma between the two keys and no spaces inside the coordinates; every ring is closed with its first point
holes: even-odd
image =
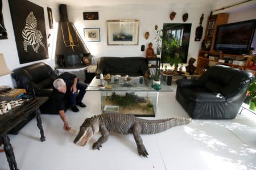
{"type": "MultiPolygon", "coordinates": [[[[0,97],[0,101],[7,100],[16,100],[13,97],[0,97]]],[[[44,130],[42,127],[42,120],[40,117],[40,105],[48,100],[48,97],[35,97],[29,100],[24,101],[19,107],[11,109],[8,113],[0,115],[0,137],[3,143],[3,148],[5,150],[6,158],[9,163],[11,170],[17,170],[17,164],[13,152],[13,147],[10,143],[10,138],[7,135],[7,132],[13,129],[16,125],[22,122],[26,117],[28,117],[33,112],[36,113],[37,126],[40,130],[40,140],[41,142],[46,141],[44,137],[44,130]]]]}

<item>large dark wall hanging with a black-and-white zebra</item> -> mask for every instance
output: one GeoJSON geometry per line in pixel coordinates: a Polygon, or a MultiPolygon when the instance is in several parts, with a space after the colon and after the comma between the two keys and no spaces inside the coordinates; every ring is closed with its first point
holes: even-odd
{"type": "Polygon", "coordinates": [[[48,58],[44,8],[27,0],[9,0],[19,63],[48,58]]]}

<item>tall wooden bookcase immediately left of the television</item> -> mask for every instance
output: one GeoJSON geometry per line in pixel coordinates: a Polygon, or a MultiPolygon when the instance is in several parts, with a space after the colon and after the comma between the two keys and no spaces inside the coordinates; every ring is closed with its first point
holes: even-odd
{"type": "Polygon", "coordinates": [[[204,41],[206,44],[204,50],[211,53],[213,52],[213,46],[215,42],[217,27],[218,25],[228,23],[228,18],[229,18],[229,14],[226,14],[226,13],[209,16],[207,27],[205,30],[205,36],[204,36],[204,41]]]}

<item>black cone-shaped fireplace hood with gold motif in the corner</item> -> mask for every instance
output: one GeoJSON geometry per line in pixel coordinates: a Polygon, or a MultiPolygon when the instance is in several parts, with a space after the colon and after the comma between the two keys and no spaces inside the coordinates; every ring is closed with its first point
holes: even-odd
{"type": "Polygon", "coordinates": [[[92,55],[82,41],[75,25],[68,21],[67,5],[59,6],[55,65],[57,69],[81,68],[91,64],[92,55]]]}

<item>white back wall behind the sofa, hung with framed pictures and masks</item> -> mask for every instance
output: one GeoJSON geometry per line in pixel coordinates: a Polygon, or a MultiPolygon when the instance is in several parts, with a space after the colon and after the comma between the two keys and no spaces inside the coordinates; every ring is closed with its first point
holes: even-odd
{"type": "MultiPolygon", "coordinates": [[[[77,30],[81,37],[84,38],[84,28],[100,28],[101,41],[100,42],[86,42],[86,46],[93,54],[96,61],[102,56],[116,56],[116,57],[134,57],[145,56],[145,52],[141,52],[141,45],[145,45],[147,49],[148,43],[153,42],[153,47],[156,48],[154,37],[156,35],[155,24],[161,29],[163,23],[184,23],[182,15],[188,12],[188,20],[185,23],[192,23],[191,38],[188,50],[189,57],[196,57],[200,49],[201,42],[194,41],[195,30],[199,26],[201,14],[204,14],[203,27],[207,23],[207,16],[209,15],[210,7],[170,7],[170,6],[112,6],[112,7],[94,7],[84,8],[81,11],[76,8],[67,6],[69,21],[75,23],[77,30]],[[99,20],[83,20],[82,12],[98,11],[99,20]],[[170,20],[170,13],[175,11],[176,17],[170,20]],[[139,20],[139,45],[108,45],[107,42],[107,28],[106,20],[118,19],[138,19],[139,20]],[[145,32],[150,32],[150,37],[146,40],[144,38],[145,32]]],[[[156,52],[156,50],[155,50],[156,52]]]]}

